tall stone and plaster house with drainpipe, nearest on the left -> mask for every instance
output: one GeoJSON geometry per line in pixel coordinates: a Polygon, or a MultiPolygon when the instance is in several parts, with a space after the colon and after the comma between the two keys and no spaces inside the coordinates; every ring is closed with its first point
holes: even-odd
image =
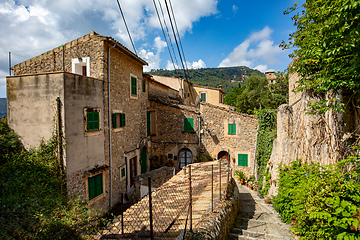
{"type": "Polygon", "coordinates": [[[13,66],[7,77],[10,127],[27,148],[62,129],[69,191],[103,210],[149,169],[143,65],[113,38],[91,32],[13,66]]]}

